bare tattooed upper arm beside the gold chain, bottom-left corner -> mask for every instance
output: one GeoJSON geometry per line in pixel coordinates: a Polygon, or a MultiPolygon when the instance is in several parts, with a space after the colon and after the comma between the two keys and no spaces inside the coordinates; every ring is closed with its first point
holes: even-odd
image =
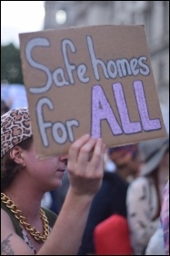
{"type": "Polygon", "coordinates": [[[16,233],[5,210],[1,209],[1,255],[33,255],[16,233]]]}

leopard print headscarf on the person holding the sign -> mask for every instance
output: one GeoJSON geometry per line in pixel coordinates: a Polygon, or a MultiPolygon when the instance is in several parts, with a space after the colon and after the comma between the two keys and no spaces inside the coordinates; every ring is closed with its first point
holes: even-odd
{"type": "Polygon", "coordinates": [[[16,144],[33,135],[28,108],[10,110],[1,116],[1,158],[16,144]]]}

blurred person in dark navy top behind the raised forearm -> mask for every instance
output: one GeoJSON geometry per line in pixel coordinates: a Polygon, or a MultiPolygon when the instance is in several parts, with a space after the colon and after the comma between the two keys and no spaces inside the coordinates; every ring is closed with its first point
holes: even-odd
{"type": "MultiPolygon", "coordinates": [[[[114,214],[126,219],[125,199],[128,188],[126,177],[132,173],[136,175],[138,172],[138,165],[131,163],[133,159],[138,159],[137,146],[131,144],[109,148],[107,155],[114,155],[116,161],[112,168],[105,163],[102,187],[92,202],[79,255],[95,254],[94,230],[99,223],[114,214]],[[109,168],[107,169],[107,167],[109,168]]],[[[105,157],[105,161],[107,161],[107,157],[105,157]]],[[[138,163],[138,160],[136,162],[138,163]]]]}

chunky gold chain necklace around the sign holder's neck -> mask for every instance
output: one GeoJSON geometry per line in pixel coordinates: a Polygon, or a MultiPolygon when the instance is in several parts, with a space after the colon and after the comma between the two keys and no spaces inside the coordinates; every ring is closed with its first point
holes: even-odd
{"type": "Polygon", "coordinates": [[[25,229],[30,233],[30,235],[37,241],[43,242],[47,239],[49,235],[49,225],[48,220],[45,216],[45,212],[40,209],[40,217],[43,221],[43,235],[39,231],[37,231],[34,227],[31,227],[27,220],[23,216],[23,212],[17,208],[14,201],[12,201],[9,197],[7,197],[4,193],[1,193],[1,200],[6,205],[7,208],[15,214],[15,218],[19,220],[20,224],[25,227],[25,229]]]}

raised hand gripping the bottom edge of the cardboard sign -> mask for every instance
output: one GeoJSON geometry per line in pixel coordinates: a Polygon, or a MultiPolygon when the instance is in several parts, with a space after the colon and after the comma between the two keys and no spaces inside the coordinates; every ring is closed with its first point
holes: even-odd
{"type": "Polygon", "coordinates": [[[68,156],[68,176],[75,193],[94,196],[104,174],[105,144],[101,138],[85,134],[71,145],[68,156]],[[93,152],[93,153],[92,153],[93,152]],[[92,155],[90,161],[90,155],[92,155]]]}

